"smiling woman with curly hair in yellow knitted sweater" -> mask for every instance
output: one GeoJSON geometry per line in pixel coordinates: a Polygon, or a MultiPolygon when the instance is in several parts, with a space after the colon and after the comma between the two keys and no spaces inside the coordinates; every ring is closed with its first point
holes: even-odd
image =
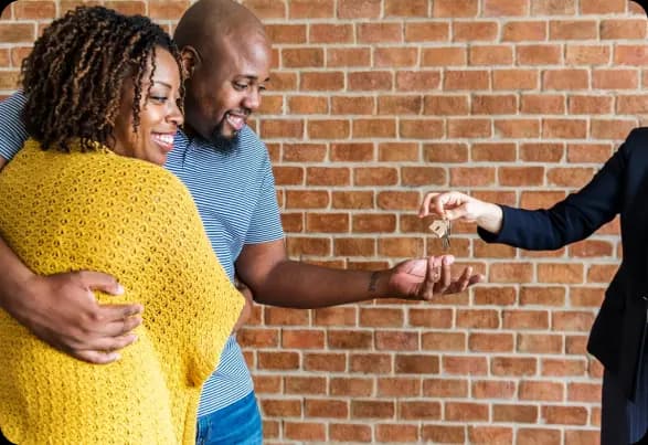
{"type": "Polygon", "coordinates": [[[104,271],[146,310],[108,365],[0,311],[0,428],[13,443],[194,442],[202,383],[243,298],[188,191],[159,167],[182,124],[180,73],[158,25],[99,7],[54,21],[23,63],[33,139],[0,173],[0,234],[35,273],[104,271]]]}

